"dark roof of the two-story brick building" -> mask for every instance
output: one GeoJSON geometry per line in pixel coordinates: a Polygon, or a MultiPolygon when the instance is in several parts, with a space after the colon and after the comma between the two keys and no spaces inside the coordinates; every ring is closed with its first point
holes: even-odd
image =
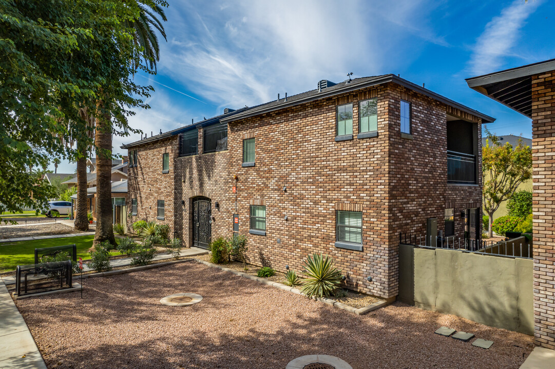
{"type": "Polygon", "coordinates": [[[284,98],[282,98],[282,99],[265,102],[264,104],[251,106],[251,107],[246,107],[245,106],[241,109],[235,110],[233,112],[229,112],[228,114],[218,115],[218,116],[212,117],[210,119],[205,119],[203,121],[197,122],[195,124],[190,124],[190,125],[180,127],[178,129],[175,129],[175,130],[171,130],[171,131],[168,131],[168,132],[163,132],[162,134],[147,137],[146,139],[143,139],[143,140],[139,140],[139,141],[135,141],[135,142],[131,142],[131,143],[126,143],[125,145],[122,145],[121,147],[122,148],[129,148],[129,147],[133,147],[133,146],[143,145],[144,143],[154,142],[154,141],[165,139],[166,137],[170,137],[170,136],[174,136],[174,135],[184,133],[184,132],[186,132],[188,130],[191,130],[191,129],[193,129],[195,127],[198,127],[198,126],[203,126],[204,127],[204,126],[208,126],[208,125],[212,125],[212,124],[216,124],[216,123],[220,123],[220,122],[221,123],[227,123],[227,122],[231,122],[231,121],[234,121],[234,120],[243,119],[245,117],[264,114],[265,112],[284,109],[285,107],[299,105],[299,104],[302,104],[304,102],[313,101],[313,100],[317,100],[317,99],[322,99],[322,98],[326,98],[326,97],[329,97],[329,96],[339,95],[339,94],[346,93],[346,92],[349,92],[349,91],[359,90],[359,89],[363,89],[363,88],[366,88],[366,87],[375,86],[375,85],[379,85],[379,84],[384,84],[384,83],[388,83],[388,82],[393,82],[393,83],[396,83],[398,85],[405,86],[408,89],[411,89],[411,90],[416,91],[418,93],[421,93],[423,95],[429,96],[432,99],[435,99],[437,101],[441,101],[441,102],[443,102],[447,105],[456,107],[457,109],[460,109],[460,110],[465,111],[469,114],[480,117],[482,119],[482,123],[491,123],[491,122],[495,121],[495,119],[492,118],[491,116],[482,114],[481,112],[479,112],[477,110],[471,109],[470,107],[468,107],[466,105],[462,105],[462,104],[460,104],[456,101],[453,101],[451,99],[447,99],[445,96],[442,96],[440,94],[436,94],[435,92],[433,92],[431,90],[428,90],[428,89],[425,89],[422,86],[418,86],[416,84],[413,84],[412,82],[410,82],[406,79],[400,78],[400,77],[398,77],[394,74],[384,74],[384,75],[377,75],[377,76],[371,76],[371,77],[355,78],[355,79],[352,79],[352,80],[345,80],[343,82],[337,83],[337,84],[332,85],[330,87],[327,87],[325,89],[321,89],[321,90],[314,89],[314,90],[306,91],[306,92],[301,93],[301,94],[287,96],[287,99],[285,99],[285,96],[284,96],[284,98]]]}

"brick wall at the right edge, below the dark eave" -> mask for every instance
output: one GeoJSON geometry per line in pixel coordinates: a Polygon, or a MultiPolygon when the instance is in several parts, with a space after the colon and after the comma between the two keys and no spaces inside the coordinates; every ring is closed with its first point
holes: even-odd
{"type": "Polygon", "coordinates": [[[555,72],[532,77],[534,336],[555,349],[555,72]]]}

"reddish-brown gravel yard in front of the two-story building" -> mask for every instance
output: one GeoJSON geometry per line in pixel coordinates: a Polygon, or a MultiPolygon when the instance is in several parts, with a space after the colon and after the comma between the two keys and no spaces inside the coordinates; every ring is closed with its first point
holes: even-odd
{"type": "Polygon", "coordinates": [[[396,303],[357,316],[194,262],[85,280],[16,301],[49,368],[285,368],[334,355],[361,368],[518,368],[532,337],[396,303]],[[195,305],[159,300],[191,292],[195,305]],[[490,350],[433,333],[495,342],[490,350]]]}

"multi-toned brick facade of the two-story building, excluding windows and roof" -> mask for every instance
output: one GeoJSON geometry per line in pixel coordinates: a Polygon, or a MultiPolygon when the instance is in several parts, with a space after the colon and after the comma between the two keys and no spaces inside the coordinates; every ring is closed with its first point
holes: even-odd
{"type": "Polygon", "coordinates": [[[478,117],[393,83],[230,121],[227,151],[201,153],[202,129],[199,155],[179,157],[178,136],[138,142],[130,147],[139,155],[138,166],[129,168],[129,201],[138,199],[138,215],[130,222],[155,219],[156,200],[163,197],[165,218],[158,222],[190,246],[193,199],[208,197],[212,238],[233,234],[233,214],[239,214],[251,263],[300,272],[307,255],[321,252],[335,259],[348,288],[396,296],[400,233],[425,234],[430,217],[443,230],[447,207],[455,209],[456,237],[462,238],[461,211],[481,206],[481,180],[472,186],[447,184],[447,114],[473,122],[481,150],[478,117]],[[369,98],[378,102],[377,137],[357,139],[357,103],[369,98]],[[401,99],[412,104],[407,138],[400,134],[401,99]],[[336,106],[349,102],[354,138],[336,142],[336,106]],[[255,139],[253,167],[242,166],[248,137],[255,139]],[[170,152],[167,174],[162,174],[164,150],[170,152]],[[266,235],[249,234],[253,204],[266,206],[266,235]],[[335,247],[338,210],[362,212],[362,251],[335,247]]]}

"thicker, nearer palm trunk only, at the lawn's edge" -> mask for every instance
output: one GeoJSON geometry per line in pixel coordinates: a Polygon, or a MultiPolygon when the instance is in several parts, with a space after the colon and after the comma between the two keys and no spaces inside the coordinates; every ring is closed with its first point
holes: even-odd
{"type": "Polygon", "coordinates": [[[112,225],[112,124],[109,116],[97,119],[94,141],[97,155],[97,229],[93,245],[105,240],[115,245],[112,225]]]}

